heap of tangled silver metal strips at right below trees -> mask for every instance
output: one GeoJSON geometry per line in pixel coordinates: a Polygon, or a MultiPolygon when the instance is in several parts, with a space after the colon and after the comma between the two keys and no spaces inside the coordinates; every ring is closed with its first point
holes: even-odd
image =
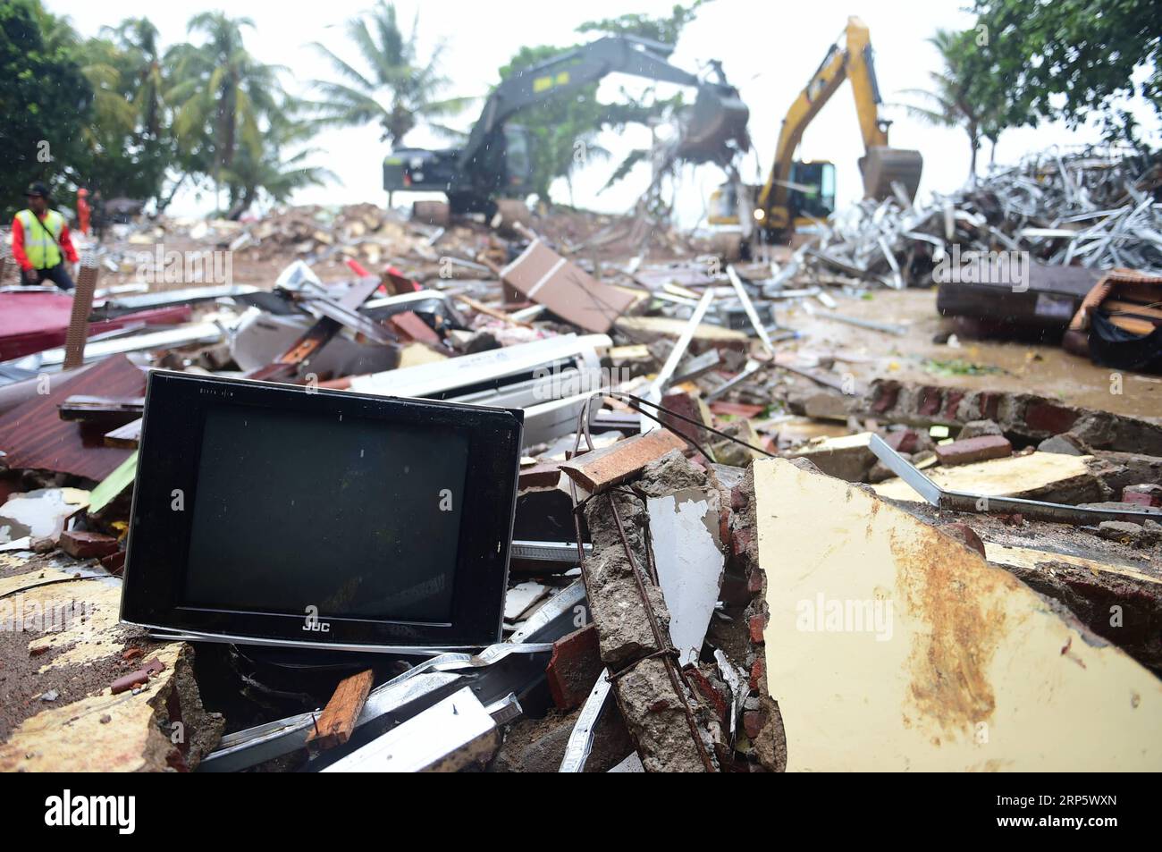
{"type": "Polygon", "coordinates": [[[820,223],[818,239],[776,266],[839,272],[884,286],[926,286],[954,246],[1025,251],[1039,263],[1162,272],[1162,167],[1120,152],[1041,152],[966,188],[912,203],[903,192],[862,201],[820,223]]]}

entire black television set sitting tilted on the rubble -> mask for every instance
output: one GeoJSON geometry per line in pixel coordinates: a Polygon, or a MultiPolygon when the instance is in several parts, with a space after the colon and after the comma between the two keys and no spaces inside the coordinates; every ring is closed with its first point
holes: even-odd
{"type": "Polygon", "coordinates": [[[122,620],[232,642],[500,637],[522,415],[150,374],[122,620]]]}

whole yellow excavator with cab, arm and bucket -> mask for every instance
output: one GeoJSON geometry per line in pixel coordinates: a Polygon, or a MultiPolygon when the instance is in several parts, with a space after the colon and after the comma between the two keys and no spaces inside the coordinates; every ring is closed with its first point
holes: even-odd
{"type": "Polygon", "coordinates": [[[867,24],[848,17],[846,44],[832,44],[783,119],[779,148],[767,182],[745,186],[737,176],[710,196],[708,221],[713,225],[740,229],[746,252],[749,243],[787,242],[796,228],[826,219],[835,208],[835,166],[827,160],[796,160],[803,130],[823,109],[844,80],[851,80],[855,112],[863,135],[865,155],[860,158],[863,189],[867,198],[883,199],[892,194],[892,184],[903,186],[909,199],[916,195],[924,160],[919,151],[888,146],[888,127],[880,117],[880,87],[871,60],[871,40],[867,24]]]}

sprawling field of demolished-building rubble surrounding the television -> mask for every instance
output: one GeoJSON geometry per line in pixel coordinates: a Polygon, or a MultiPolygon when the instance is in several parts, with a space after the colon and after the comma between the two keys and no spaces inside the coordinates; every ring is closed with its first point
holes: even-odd
{"type": "Polygon", "coordinates": [[[773,278],[633,220],[363,206],[127,231],[91,310],[0,292],[0,769],[1162,768],[1162,423],[856,380],[787,325],[956,235],[1150,267],[1103,169],[884,202],[773,278]],[[153,367],[523,409],[500,642],[307,667],[119,623],[153,367]]]}

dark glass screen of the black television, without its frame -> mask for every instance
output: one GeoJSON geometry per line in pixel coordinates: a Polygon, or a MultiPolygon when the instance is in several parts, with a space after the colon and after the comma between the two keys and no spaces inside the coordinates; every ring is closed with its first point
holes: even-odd
{"type": "Polygon", "coordinates": [[[187,606],[447,621],[467,456],[450,428],[210,409],[187,606]]]}

